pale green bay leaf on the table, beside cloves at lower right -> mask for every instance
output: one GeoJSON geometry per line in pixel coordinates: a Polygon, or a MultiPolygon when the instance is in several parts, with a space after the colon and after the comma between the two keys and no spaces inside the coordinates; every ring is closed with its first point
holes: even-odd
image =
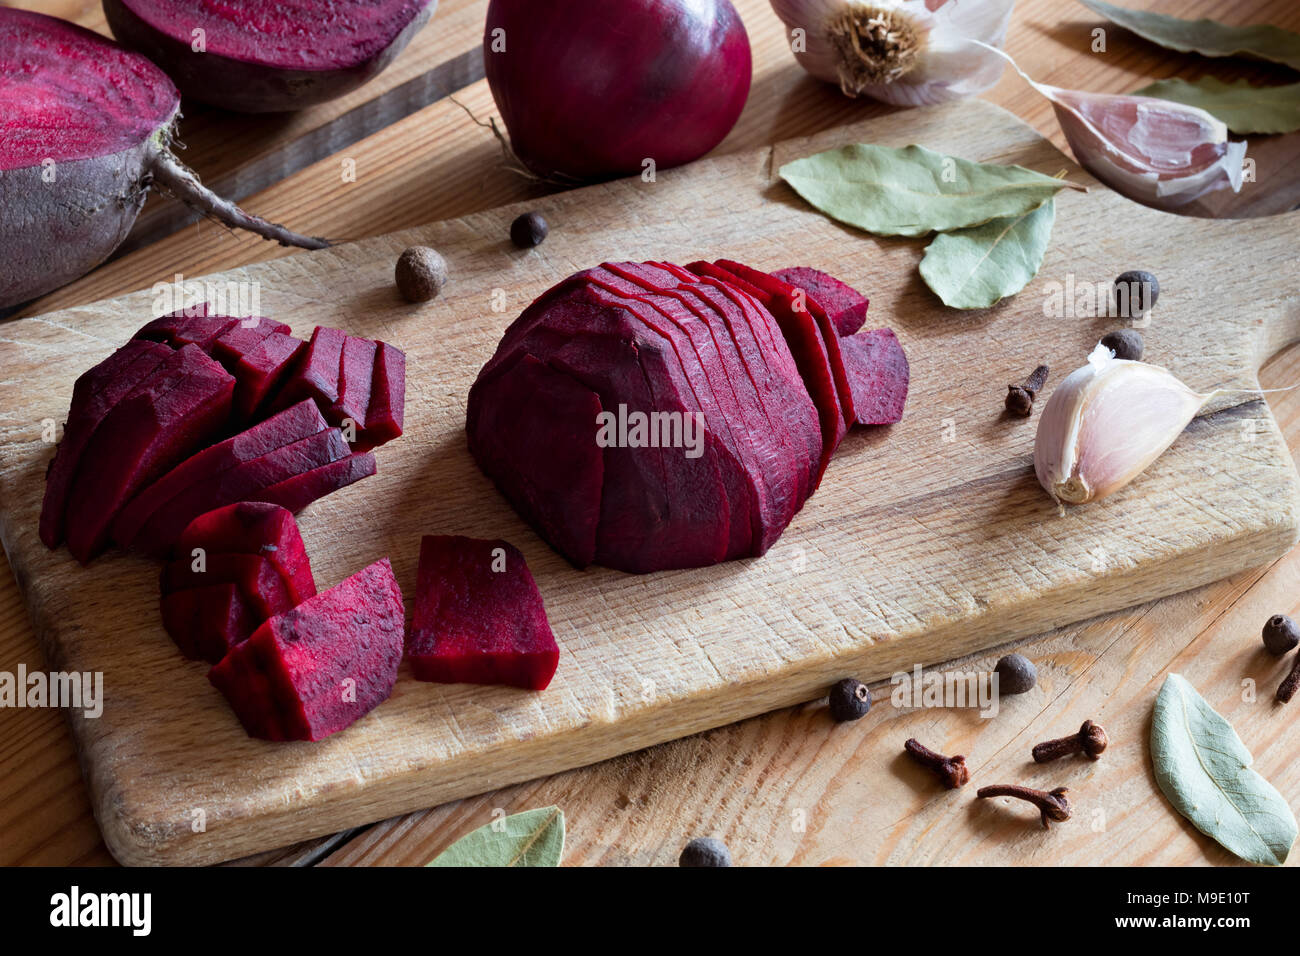
{"type": "Polygon", "coordinates": [[[1178,674],[1165,678],[1156,697],[1150,758],[1161,792],[1197,830],[1249,862],[1286,862],[1295,814],[1251,770],[1251,752],[1232,724],[1178,674]]]}

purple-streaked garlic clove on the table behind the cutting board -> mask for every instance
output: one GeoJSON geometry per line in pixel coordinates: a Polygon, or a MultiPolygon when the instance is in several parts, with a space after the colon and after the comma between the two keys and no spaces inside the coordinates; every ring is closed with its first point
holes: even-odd
{"type": "Polygon", "coordinates": [[[1245,142],[1204,109],[1154,96],[1123,96],[1036,85],[1079,165],[1117,193],[1174,209],[1206,193],[1242,190],[1245,142]]]}

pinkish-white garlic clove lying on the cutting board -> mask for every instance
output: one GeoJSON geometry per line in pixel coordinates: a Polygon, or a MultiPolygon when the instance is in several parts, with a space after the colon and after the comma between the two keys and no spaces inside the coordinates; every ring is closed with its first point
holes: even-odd
{"type": "Polygon", "coordinates": [[[1206,399],[1167,369],[1117,359],[1098,345],[1043,410],[1034,441],[1039,484],[1069,505],[1118,492],[1174,444],[1206,399]]]}

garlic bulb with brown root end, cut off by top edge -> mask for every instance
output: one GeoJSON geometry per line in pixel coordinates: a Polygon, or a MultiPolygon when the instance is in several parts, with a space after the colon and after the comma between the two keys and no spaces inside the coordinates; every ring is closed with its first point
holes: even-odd
{"type": "Polygon", "coordinates": [[[771,0],[810,74],[849,96],[920,107],[983,92],[1002,75],[1014,0],[771,0]],[[978,40],[978,43],[972,43],[978,40]]]}

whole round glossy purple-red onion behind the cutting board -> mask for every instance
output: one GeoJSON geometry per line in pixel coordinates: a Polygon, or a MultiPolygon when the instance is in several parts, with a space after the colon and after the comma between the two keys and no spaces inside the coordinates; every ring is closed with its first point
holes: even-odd
{"type": "Polygon", "coordinates": [[[569,182],[703,156],[751,74],[729,0],[493,0],[484,68],[519,159],[569,182]]]}

